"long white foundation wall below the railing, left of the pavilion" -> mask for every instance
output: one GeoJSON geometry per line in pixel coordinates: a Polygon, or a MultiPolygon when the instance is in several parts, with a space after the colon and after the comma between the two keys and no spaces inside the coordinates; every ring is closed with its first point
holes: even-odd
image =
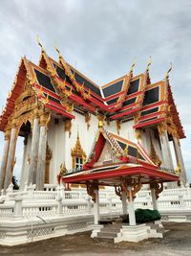
{"type": "Polygon", "coordinates": [[[93,217],[55,217],[0,223],[0,244],[17,245],[92,230],[93,217]]]}

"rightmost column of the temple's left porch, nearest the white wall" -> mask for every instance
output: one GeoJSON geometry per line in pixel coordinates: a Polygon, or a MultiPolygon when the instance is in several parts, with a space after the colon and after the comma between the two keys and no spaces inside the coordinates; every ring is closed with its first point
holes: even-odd
{"type": "Polygon", "coordinates": [[[47,128],[40,127],[38,162],[36,169],[36,190],[44,189],[45,166],[46,166],[46,149],[47,149],[47,128]]]}

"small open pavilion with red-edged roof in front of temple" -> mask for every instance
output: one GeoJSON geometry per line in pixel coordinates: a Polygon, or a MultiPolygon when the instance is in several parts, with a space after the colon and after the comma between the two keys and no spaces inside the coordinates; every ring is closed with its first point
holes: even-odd
{"type": "Polygon", "coordinates": [[[157,154],[154,156],[151,159],[139,143],[131,142],[109,131],[99,121],[92,151],[82,169],[67,173],[62,178],[65,183],[87,186],[87,193],[95,203],[95,226],[92,237],[96,237],[102,227],[99,224],[99,186],[114,186],[117,196],[122,201],[123,214],[129,214],[125,236],[119,241],[138,242],[148,238],[146,225],[138,225],[136,222],[136,194],[142,185],[149,184],[153,209],[158,209],[157,199],[163,190],[163,183],[179,181],[180,176],[179,171],[160,169],[157,154]]]}

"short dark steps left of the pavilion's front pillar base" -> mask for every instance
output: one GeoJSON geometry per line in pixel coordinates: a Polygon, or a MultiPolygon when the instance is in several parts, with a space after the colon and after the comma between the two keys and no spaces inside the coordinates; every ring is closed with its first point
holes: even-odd
{"type": "Polygon", "coordinates": [[[121,223],[104,225],[100,232],[97,233],[96,241],[114,244],[114,240],[117,238],[117,234],[120,233],[121,227],[121,223]]]}

